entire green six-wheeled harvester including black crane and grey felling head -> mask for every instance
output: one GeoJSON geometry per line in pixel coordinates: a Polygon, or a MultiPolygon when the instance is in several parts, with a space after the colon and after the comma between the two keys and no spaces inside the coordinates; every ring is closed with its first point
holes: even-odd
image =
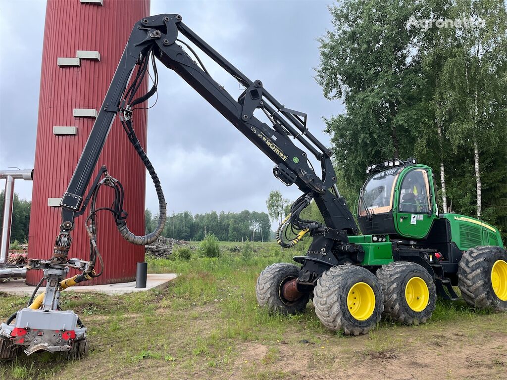
{"type": "Polygon", "coordinates": [[[103,271],[97,244],[98,212],[111,212],[119,233],[133,244],[150,244],[160,236],[166,220],[165,197],[132,125],[136,106],[157,91],[157,60],[174,70],[271,159],[276,178],[287,186],[295,184],[303,193],[280,225],[278,243],[292,247],[306,234],[313,238],[312,243],[305,256],[294,257],[298,265],[276,263],[260,274],[256,286],[260,306],[293,314],[303,311],[313,298],[315,312],[325,326],[354,335],[367,333],[382,315],[409,324],[426,321],[437,293],[447,299],[458,298],[453,285],[470,305],[507,310],[507,255],[498,230],[472,217],[438,214],[431,168],[412,158],[369,166],[370,176],[358,202],[360,234],[339,193],[332,151],[309,131],[306,113],[286,108],[260,80],[248,79],[185,25],[180,15],[162,14],[143,18],[132,29],[61,198],[61,224],[52,257],[30,259],[27,264],[30,270],[44,272],[39,286],[45,281],[45,292],[37,297],[34,292],[26,308],[0,325],[0,358],[14,358],[20,348],[28,355],[39,350],[70,357],[86,353],[87,329],[73,311],[60,310],[59,297],[61,290],[103,271]],[[188,43],[178,38],[181,36],[188,43]],[[243,86],[238,98],[213,80],[190,44],[243,86]],[[137,95],[150,61],[153,86],[148,93],[137,95]],[[159,224],[146,236],[135,236],[127,227],[120,181],[105,166],[92,180],[117,115],[149,171],[159,199],[159,224]],[[320,163],[320,175],[311,160],[320,163]],[[104,186],[113,189],[115,200],[111,206],[98,207],[97,193],[104,186]],[[300,218],[312,200],[323,224],[300,218]],[[90,239],[87,260],[68,257],[78,217],[85,219],[90,239]],[[287,229],[297,232],[294,239],[286,239],[287,229]],[[81,273],[66,279],[69,268],[81,273]]]}

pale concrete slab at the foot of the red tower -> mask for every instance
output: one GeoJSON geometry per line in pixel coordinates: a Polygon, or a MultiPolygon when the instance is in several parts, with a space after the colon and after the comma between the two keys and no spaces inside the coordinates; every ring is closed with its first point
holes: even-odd
{"type": "MultiPolygon", "coordinates": [[[[73,291],[76,293],[104,293],[108,295],[115,294],[126,294],[132,292],[146,291],[150,289],[164,289],[169,285],[169,281],[174,280],[177,277],[175,273],[149,273],[146,281],[146,288],[136,288],[135,281],[132,282],[120,282],[117,284],[106,284],[106,285],[85,285],[85,286],[74,286],[64,290],[73,291]]],[[[13,294],[13,295],[31,295],[34,286],[26,285],[24,279],[11,280],[0,283],[0,292],[13,294]]],[[[42,293],[44,287],[41,286],[37,294],[42,293]]]]}

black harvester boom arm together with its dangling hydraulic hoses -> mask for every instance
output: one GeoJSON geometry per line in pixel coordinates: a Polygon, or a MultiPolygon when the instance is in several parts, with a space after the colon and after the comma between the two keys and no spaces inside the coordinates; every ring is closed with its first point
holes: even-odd
{"type": "MultiPolygon", "coordinates": [[[[188,45],[187,47],[194,53],[188,45]]],[[[126,129],[130,128],[130,132],[127,130],[129,138],[150,171],[151,164],[149,164],[131,128],[130,119],[133,104],[130,102],[133,94],[130,98],[125,95],[134,69],[136,66],[138,67],[137,80],[139,72],[142,69],[147,70],[150,55],[174,70],[243,135],[261,149],[276,164],[273,173],[278,179],[286,185],[295,183],[305,193],[304,197],[306,198],[300,198],[298,200],[300,203],[293,205],[293,213],[299,215],[299,212],[308,205],[309,201],[312,198],[315,199],[326,225],[321,226],[316,222],[301,221],[302,224],[294,223],[296,226],[304,232],[312,232],[314,237],[317,232],[322,235],[325,231],[327,232],[327,239],[330,238],[330,231],[333,231],[334,235],[331,234],[333,235],[331,239],[334,242],[339,241],[340,244],[348,242],[347,235],[357,233],[357,226],[352,214],[346,205],[345,199],[340,197],[336,187],[336,175],[331,161],[332,153],[308,131],[306,115],[285,108],[263,87],[261,81],[248,79],[185,25],[181,16],[163,14],[144,18],[134,25],[74,175],[62,197],[62,224],[60,225],[60,235],[55,243],[52,260],[65,262],[71,241],[69,233],[74,229],[74,219],[84,213],[91,199],[95,199],[93,192],[97,185],[103,184],[105,181],[105,184],[113,186],[113,182],[116,181],[108,176],[106,169],[103,167],[102,173],[96,177],[92,185],[90,194],[85,198],[85,190],[117,113],[120,113],[124,127],[126,129]],[[187,37],[246,88],[237,100],[220,84],[216,83],[204,66],[201,64],[201,67],[195,62],[177,43],[187,45],[177,39],[178,33],[187,37]],[[271,125],[268,126],[253,115],[256,109],[264,111],[271,125]],[[309,164],[307,153],[297,147],[293,143],[293,139],[300,141],[320,161],[322,178],[317,176],[309,164]],[[100,181],[101,174],[105,174],[108,179],[100,181]]],[[[196,58],[199,61],[197,55],[196,58]]],[[[155,63],[155,60],[153,62],[155,63]]],[[[132,86],[127,90],[127,93],[132,90],[132,86]]],[[[134,89],[134,93],[135,90],[137,88],[134,89]]],[[[152,89],[148,94],[137,100],[137,103],[148,99],[153,93],[154,90],[152,89]]],[[[151,169],[153,170],[153,168],[151,169]]],[[[157,193],[161,204],[160,215],[165,216],[165,201],[160,183],[155,172],[150,171],[150,173],[156,187],[158,183],[157,193]]],[[[121,208],[119,209],[121,210],[121,208]]],[[[128,231],[124,218],[119,216],[121,214],[123,214],[123,210],[119,214],[117,213],[118,229],[127,240],[135,244],[146,244],[147,241],[156,239],[163,229],[162,222],[159,224],[158,230],[149,237],[136,237],[128,231]]],[[[89,230],[93,245],[94,225],[91,225],[89,230]]]]}

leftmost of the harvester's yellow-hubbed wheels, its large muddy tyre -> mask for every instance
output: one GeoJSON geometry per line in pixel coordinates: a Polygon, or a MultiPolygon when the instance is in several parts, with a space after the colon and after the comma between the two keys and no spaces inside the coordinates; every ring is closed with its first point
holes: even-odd
{"type": "Polygon", "coordinates": [[[320,322],[333,331],[343,331],[345,335],[368,333],[380,321],[384,310],[384,295],[378,279],[367,269],[356,265],[338,265],[325,271],[318,279],[313,294],[315,314],[320,322]],[[374,296],[373,302],[366,305],[371,315],[364,320],[354,318],[349,311],[352,288],[359,284],[367,284],[374,296]]]}

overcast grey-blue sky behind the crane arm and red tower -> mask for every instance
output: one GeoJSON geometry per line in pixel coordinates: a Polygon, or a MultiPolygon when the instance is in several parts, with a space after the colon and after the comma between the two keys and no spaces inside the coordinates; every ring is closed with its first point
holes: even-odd
{"type": "MultiPolygon", "coordinates": [[[[319,62],[316,38],[331,28],[330,3],[152,0],[151,14],[182,15],[251,80],[260,79],[280,103],[306,112],[310,131],[329,146],[322,117],[343,112],[343,105],[326,100],[313,75],[319,62]]],[[[0,170],[33,167],[45,8],[45,2],[35,0],[2,0],[0,5],[0,170]]],[[[199,56],[215,81],[237,98],[242,91],[237,82],[205,60],[204,53],[199,56]]],[[[161,178],[169,213],[265,211],[272,189],[291,200],[299,197],[298,188],[279,182],[273,162],[218,111],[173,71],[162,64],[158,68],[159,99],[149,111],[148,156],[161,178]]],[[[31,182],[16,181],[21,198],[31,198],[31,187],[31,182]]],[[[146,206],[158,209],[149,177],[146,206]]]]}

